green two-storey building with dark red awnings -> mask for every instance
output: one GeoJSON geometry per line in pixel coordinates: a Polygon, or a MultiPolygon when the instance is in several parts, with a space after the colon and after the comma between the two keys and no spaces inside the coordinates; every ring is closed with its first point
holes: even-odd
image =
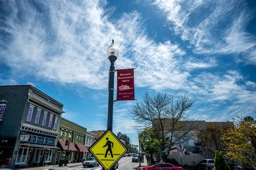
{"type": "Polygon", "coordinates": [[[56,157],[54,158],[55,164],[58,164],[60,159],[66,159],[68,148],[70,151],[70,154],[67,155],[69,163],[82,162],[86,153],[89,152],[85,146],[86,131],[86,128],[68,119],[63,117],[60,119],[57,144],[60,150],[57,150],[56,157]]]}

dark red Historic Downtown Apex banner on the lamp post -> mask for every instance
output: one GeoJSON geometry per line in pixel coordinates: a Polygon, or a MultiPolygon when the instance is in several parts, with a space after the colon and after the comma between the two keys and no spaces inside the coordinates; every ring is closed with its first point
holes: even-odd
{"type": "Polygon", "coordinates": [[[117,101],[134,99],[134,69],[117,70],[117,101]]]}

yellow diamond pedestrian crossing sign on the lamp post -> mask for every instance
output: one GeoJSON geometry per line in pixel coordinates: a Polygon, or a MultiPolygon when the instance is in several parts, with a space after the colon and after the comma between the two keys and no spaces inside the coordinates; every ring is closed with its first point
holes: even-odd
{"type": "Polygon", "coordinates": [[[111,169],[116,162],[127,152],[127,148],[114,133],[106,131],[92,146],[89,151],[105,169],[111,169]]]}

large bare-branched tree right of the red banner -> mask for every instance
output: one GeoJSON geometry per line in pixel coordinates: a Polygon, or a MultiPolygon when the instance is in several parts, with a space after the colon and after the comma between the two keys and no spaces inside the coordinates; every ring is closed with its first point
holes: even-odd
{"type": "Polygon", "coordinates": [[[174,101],[172,95],[158,94],[151,97],[146,93],[143,102],[137,102],[130,110],[134,121],[139,124],[137,129],[154,129],[164,161],[174,144],[181,144],[193,136],[198,122],[194,119],[189,121],[187,111],[194,102],[186,96],[174,101]]]}

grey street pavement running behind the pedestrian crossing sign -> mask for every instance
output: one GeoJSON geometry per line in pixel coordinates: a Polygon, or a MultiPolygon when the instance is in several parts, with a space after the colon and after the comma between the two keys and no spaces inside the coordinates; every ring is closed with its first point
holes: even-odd
{"type": "MultiPolygon", "coordinates": [[[[136,169],[139,166],[138,162],[132,162],[132,157],[123,157],[121,158],[119,161],[119,166],[118,169],[136,169]]],[[[52,169],[102,169],[102,166],[98,166],[98,167],[86,167],[84,168],[83,165],[79,165],[79,166],[75,166],[75,167],[56,167],[56,168],[52,168],[52,169]]]]}

